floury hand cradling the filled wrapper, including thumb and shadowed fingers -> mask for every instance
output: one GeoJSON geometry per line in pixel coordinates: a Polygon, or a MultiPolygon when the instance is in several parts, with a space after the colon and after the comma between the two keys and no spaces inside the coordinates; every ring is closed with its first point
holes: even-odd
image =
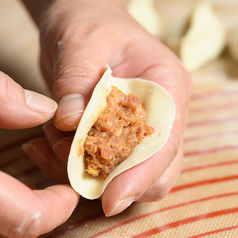
{"type": "Polygon", "coordinates": [[[63,131],[77,128],[93,88],[109,64],[113,76],[140,77],[163,86],[174,99],[176,119],[168,142],[158,153],[109,183],[101,197],[103,210],[112,216],[134,201],[164,197],[181,169],[192,91],[190,76],[178,58],[139,26],[120,0],[52,1],[41,19],[41,68],[59,107],[54,124],[44,127],[46,139],[29,142],[39,154],[35,156],[31,149],[26,152],[48,174],[67,180],[72,136],[63,131]],[[45,155],[50,166],[40,161],[45,155]]]}

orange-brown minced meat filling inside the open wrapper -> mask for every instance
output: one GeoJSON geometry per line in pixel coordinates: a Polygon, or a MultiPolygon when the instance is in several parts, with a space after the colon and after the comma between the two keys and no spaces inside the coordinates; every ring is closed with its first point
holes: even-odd
{"type": "Polygon", "coordinates": [[[94,177],[107,177],[145,136],[154,133],[145,121],[140,98],[112,86],[107,105],[84,142],[87,172],[94,177]]]}

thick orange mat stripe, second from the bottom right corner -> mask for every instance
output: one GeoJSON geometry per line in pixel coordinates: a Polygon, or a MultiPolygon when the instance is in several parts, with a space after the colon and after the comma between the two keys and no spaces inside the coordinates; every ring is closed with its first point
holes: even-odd
{"type": "Polygon", "coordinates": [[[214,217],[233,214],[233,213],[238,213],[238,207],[225,209],[225,210],[221,210],[221,211],[215,211],[215,212],[211,212],[211,213],[207,213],[207,214],[202,214],[202,215],[198,215],[198,216],[178,220],[176,222],[171,222],[169,224],[166,224],[166,225],[163,225],[163,226],[160,226],[160,227],[156,227],[156,228],[153,228],[151,230],[145,231],[141,234],[135,235],[132,238],[146,238],[146,237],[156,235],[156,234],[159,234],[159,233],[164,232],[166,230],[170,230],[170,229],[173,229],[173,228],[176,228],[176,227],[179,227],[179,226],[183,226],[183,225],[194,223],[194,222],[201,221],[201,220],[207,220],[207,219],[214,218],[214,217]]]}

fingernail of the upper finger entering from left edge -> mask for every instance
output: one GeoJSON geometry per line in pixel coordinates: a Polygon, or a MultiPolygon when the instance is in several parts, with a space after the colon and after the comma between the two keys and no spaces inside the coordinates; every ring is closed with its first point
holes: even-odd
{"type": "Polygon", "coordinates": [[[25,89],[25,97],[26,104],[34,112],[49,115],[57,109],[57,103],[54,100],[40,93],[25,89]]]}

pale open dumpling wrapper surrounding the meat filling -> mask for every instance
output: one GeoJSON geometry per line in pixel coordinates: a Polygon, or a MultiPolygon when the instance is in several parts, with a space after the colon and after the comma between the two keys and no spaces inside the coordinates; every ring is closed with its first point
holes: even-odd
{"type": "MultiPolygon", "coordinates": [[[[107,184],[125,170],[145,161],[155,154],[168,140],[175,119],[175,105],[172,97],[161,86],[143,79],[122,79],[111,75],[108,67],[95,87],[75,133],[68,159],[68,176],[74,190],[87,199],[99,198],[107,184]],[[138,95],[147,112],[146,123],[155,133],[146,136],[130,156],[119,164],[105,179],[92,177],[86,172],[83,144],[88,131],[106,106],[106,98],[114,85],[123,93],[138,95]]],[[[148,171],[149,172],[149,171],[148,171]]]]}

